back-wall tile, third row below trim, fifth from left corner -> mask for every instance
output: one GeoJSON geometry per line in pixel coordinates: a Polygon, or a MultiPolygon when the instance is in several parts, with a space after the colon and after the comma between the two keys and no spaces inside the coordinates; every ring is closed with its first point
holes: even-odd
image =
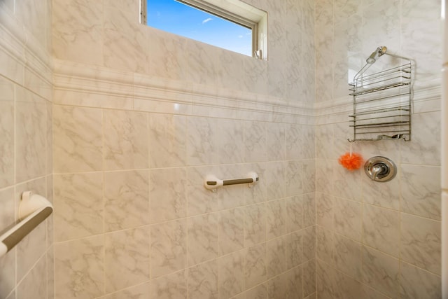
{"type": "Polygon", "coordinates": [[[245,208],[238,208],[219,213],[218,252],[220,255],[244,248],[244,211],[245,208]]]}

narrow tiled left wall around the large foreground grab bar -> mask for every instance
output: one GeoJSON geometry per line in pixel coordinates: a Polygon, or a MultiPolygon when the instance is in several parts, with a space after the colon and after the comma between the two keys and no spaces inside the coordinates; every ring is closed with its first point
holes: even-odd
{"type": "MultiPolygon", "coordinates": [[[[52,201],[51,1],[0,1],[0,231],[23,191],[52,201]]],[[[0,258],[0,298],[53,298],[52,217],[0,258]],[[31,295],[32,294],[32,295],[31,295]]]]}

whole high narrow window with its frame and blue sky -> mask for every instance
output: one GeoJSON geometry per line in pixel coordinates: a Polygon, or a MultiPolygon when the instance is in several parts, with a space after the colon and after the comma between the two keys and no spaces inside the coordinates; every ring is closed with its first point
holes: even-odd
{"type": "Polygon", "coordinates": [[[267,58],[267,13],[239,0],[141,0],[140,22],[244,55],[267,58]]]}

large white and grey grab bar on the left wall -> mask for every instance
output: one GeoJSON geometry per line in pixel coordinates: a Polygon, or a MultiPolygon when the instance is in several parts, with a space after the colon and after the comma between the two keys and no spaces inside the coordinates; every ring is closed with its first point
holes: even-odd
{"type": "Polygon", "coordinates": [[[19,205],[20,222],[0,236],[0,257],[13,249],[31,230],[44,221],[53,211],[53,207],[41,195],[31,191],[22,193],[19,205]]]}

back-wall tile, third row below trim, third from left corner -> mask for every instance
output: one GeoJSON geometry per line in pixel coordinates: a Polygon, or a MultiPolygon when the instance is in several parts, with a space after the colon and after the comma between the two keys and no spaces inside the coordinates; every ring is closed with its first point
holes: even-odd
{"type": "Polygon", "coordinates": [[[186,227],[186,220],[151,225],[151,277],[186,268],[186,227]]]}

